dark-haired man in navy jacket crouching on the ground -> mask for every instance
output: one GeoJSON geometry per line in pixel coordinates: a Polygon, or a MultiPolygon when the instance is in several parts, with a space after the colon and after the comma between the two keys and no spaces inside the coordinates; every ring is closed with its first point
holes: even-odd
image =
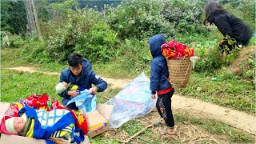
{"type": "MultiPolygon", "coordinates": [[[[68,63],[69,68],[62,70],[59,82],[71,82],[87,90],[92,88],[92,84],[94,84],[91,92],[92,95],[106,90],[107,83],[102,78],[99,78],[98,75],[94,74],[90,62],[87,59],[82,59],[82,54],[70,54],[68,63]]],[[[64,90],[58,95],[63,98],[62,104],[66,106],[67,102],[69,102],[71,98],[78,96],[78,94],[78,90],[64,90]]],[[[78,109],[74,102],[66,107],[72,110],[78,109]]]]}

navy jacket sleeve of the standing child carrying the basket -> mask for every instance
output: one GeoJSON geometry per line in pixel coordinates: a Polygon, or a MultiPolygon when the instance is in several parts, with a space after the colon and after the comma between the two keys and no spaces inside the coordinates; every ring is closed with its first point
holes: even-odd
{"type": "Polygon", "coordinates": [[[150,90],[151,94],[155,94],[158,91],[158,86],[161,78],[161,69],[159,66],[153,61],[150,67],[150,90]]]}

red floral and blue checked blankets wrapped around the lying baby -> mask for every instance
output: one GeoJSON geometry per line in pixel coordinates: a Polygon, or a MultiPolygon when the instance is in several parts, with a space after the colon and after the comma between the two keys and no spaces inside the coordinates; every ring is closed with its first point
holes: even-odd
{"type": "Polygon", "coordinates": [[[26,123],[24,130],[21,131],[22,136],[38,139],[46,139],[47,143],[52,143],[48,138],[54,140],[68,139],[68,129],[74,126],[73,134],[70,138],[74,142],[81,142],[84,139],[84,134],[88,133],[88,125],[82,111],[68,110],[58,101],[50,102],[47,94],[37,96],[32,94],[28,98],[11,104],[6,110],[4,118],[0,121],[0,132],[3,134],[11,134],[6,130],[5,120],[11,117],[18,117],[21,114],[26,114],[30,121],[26,123]],[[28,114],[27,114],[28,113],[28,114]],[[56,137],[57,134],[57,139],[56,137]],[[66,134],[64,134],[66,133],[66,134]],[[66,135],[65,138],[63,135],[66,135]]]}

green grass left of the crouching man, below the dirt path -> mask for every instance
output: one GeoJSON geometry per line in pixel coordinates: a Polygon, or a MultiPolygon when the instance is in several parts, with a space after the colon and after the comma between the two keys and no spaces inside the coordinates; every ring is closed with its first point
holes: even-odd
{"type": "Polygon", "coordinates": [[[1,101],[18,102],[30,94],[48,94],[52,100],[60,100],[55,92],[58,75],[25,73],[1,70],[1,101]]]}

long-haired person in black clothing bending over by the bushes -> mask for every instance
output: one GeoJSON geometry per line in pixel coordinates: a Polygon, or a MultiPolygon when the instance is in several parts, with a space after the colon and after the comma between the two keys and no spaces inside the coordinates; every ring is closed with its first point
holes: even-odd
{"type": "Polygon", "coordinates": [[[241,19],[236,18],[234,15],[226,12],[223,7],[218,4],[218,2],[208,2],[205,7],[205,20],[206,23],[214,24],[218,27],[218,30],[225,37],[221,42],[219,42],[220,51],[224,52],[225,47],[227,47],[227,53],[230,54],[234,50],[235,46],[242,48],[242,46],[247,46],[252,38],[253,31],[249,26],[246,26],[241,19]],[[228,39],[234,38],[236,42],[232,45],[228,43],[228,39]]]}

